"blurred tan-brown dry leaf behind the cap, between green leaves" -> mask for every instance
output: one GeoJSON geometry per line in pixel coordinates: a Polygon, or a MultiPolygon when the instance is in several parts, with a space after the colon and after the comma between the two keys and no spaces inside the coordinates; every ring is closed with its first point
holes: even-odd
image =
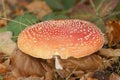
{"type": "Polygon", "coordinates": [[[45,1],[35,0],[32,3],[26,6],[28,11],[35,13],[39,19],[42,19],[43,16],[52,12],[50,7],[45,3],[45,1]]]}

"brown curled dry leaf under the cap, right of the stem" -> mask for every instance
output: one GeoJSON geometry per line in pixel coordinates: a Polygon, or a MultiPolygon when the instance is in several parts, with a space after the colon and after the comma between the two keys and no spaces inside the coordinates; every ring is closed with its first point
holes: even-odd
{"type": "Polygon", "coordinates": [[[78,66],[77,70],[83,71],[95,71],[105,68],[104,59],[99,55],[93,54],[83,58],[69,58],[66,60],[61,60],[61,64],[64,68],[73,70],[78,66]]]}

